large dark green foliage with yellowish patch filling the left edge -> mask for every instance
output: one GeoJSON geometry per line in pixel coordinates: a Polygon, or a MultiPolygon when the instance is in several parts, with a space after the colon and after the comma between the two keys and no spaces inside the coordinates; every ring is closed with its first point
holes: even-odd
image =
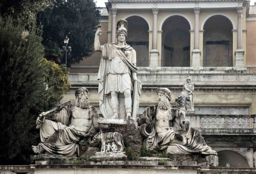
{"type": "Polygon", "coordinates": [[[68,90],[68,70],[44,60],[35,28],[0,16],[0,164],[28,164],[39,142],[35,120],[68,90]],[[13,24],[14,23],[14,24],[13,24]],[[11,31],[11,32],[10,32],[11,31]],[[54,75],[52,75],[54,74],[54,75]],[[48,89],[47,89],[48,86],[48,89]]]}

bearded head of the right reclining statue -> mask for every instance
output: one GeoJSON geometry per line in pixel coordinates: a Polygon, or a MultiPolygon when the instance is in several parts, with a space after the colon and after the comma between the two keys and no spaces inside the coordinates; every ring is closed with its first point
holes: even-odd
{"type": "Polygon", "coordinates": [[[158,108],[161,110],[168,110],[170,108],[170,101],[172,100],[172,94],[168,88],[157,89],[157,94],[161,93],[162,97],[159,97],[158,108]]]}

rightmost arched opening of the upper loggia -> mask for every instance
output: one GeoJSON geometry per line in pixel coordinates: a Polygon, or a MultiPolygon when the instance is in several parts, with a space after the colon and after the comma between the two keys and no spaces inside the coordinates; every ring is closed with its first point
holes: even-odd
{"type": "Polygon", "coordinates": [[[204,24],[203,66],[233,66],[232,23],[222,15],[204,24]]]}

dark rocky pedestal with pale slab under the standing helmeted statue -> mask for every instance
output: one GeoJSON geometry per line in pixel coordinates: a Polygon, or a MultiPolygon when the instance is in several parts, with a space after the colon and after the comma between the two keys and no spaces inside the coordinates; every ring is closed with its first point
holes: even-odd
{"type": "Polygon", "coordinates": [[[99,119],[102,133],[118,132],[123,136],[124,151],[128,160],[137,160],[142,147],[142,137],[135,120],[99,119]]]}

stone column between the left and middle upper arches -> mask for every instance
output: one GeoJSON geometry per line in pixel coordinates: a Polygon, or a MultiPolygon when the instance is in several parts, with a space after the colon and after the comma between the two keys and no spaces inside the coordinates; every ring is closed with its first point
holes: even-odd
{"type": "Polygon", "coordinates": [[[158,8],[152,8],[153,12],[153,36],[152,36],[152,50],[150,51],[150,67],[158,66],[159,52],[157,50],[157,14],[158,8]]]}

